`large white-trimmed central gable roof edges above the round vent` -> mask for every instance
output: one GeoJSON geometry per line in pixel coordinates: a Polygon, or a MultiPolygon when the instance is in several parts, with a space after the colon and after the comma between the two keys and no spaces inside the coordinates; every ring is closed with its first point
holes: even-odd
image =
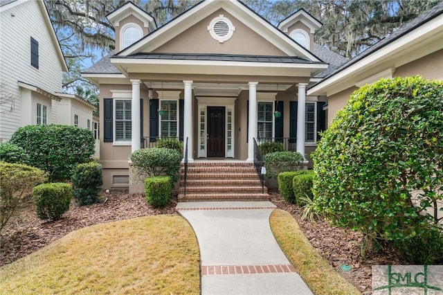
{"type": "Polygon", "coordinates": [[[269,42],[277,46],[285,54],[289,56],[298,56],[313,62],[321,62],[321,60],[313,53],[297,44],[289,36],[282,33],[281,30],[275,28],[275,26],[260,17],[260,15],[257,15],[257,13],[251,10],[251,8],[248,8],[244,3],[237,0],[201,1],[186,12],[183,12],[183,14],[172,19],[168,24],[161,26],[161,28],[146,35],[138,42],[123,49],[123,51],[120,51],[116,55],[118,55],[118,57],[125,57],[143,51],[152,52],[220,8],[226,10],[233,15],[233,17],[242,19],[246,26],[249,26],[249,28],[255,30],[256,33],[268,39],[269,42]]]}

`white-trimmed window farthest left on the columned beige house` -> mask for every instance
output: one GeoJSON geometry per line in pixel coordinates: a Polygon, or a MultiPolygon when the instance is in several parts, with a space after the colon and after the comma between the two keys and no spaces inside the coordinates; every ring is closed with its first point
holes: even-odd
{"type": "Polygon", "coordinates": [[[132,109],[131,100],[115,100],[114,141],[131,141],[132,109]]]}

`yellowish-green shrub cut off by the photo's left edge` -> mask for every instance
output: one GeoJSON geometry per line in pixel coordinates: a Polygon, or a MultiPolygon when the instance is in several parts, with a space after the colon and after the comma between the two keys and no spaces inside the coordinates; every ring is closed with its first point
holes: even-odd
{"type": "Polygon", "coordinates": [[[33,187],[45,180],[42,170],[0,161],[0,231],[33,187]]]}

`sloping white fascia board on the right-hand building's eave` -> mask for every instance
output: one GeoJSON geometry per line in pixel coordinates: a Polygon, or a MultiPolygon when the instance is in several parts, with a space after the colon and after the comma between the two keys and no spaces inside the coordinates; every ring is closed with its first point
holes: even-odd
{"type": "Polygon", "coordinates": [[[364,72],[366,69],[373,67],[374,65],[381,66],[383,63],[386,64],[387,59],[395,60],[398,53],[407,50],[407,48],[410,48],[410,46],[413,44],[422,42],[422,40],[426,39],[429,35],[432,36],[438,33],[441,34],[442,27],[443,15],[440,15],[439,17],[431,19],[431,21],[428,21],[419,28],[406,33],[406,35],[403,35],[389,44],[386,44],[370,55],[363,57],[362,60],[359,60],[358,62],[348,66],[346,69],[339,71],[335,75],[327,78],[327,80],[323,80],[323,82],[316,84],[314,87],[307,90],[307,95],[322,95],[327,93],[327,96],[331,96],[335,93],[343,91],[344,89],[352,87],[357,82],[352,80],[355,78],[356,73],[364,72]],[[329,87],[336,86],[341,81],[347,81],[347,83],[345,84],[342,82],[342,87],[339,89],[336,88],[334,92],[327,91],[329,87]]]}

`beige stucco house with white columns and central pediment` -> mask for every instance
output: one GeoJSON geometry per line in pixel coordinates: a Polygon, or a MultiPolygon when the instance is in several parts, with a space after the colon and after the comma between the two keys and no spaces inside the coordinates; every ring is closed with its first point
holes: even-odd
{"type": "Polygon", "coordinates": [[[202,1],[160,28],[132,2],[107,17],[116,51],[82,73],[100,87],[104,188],[127,187],[129,154],[159,137],[187,142],[190,162],[251,163],[255,141],[309,159],[326,98],[306,89],[346,59],[314,43],[321,23],[305,10],[278,27],[236,0],[202,1]]]}

